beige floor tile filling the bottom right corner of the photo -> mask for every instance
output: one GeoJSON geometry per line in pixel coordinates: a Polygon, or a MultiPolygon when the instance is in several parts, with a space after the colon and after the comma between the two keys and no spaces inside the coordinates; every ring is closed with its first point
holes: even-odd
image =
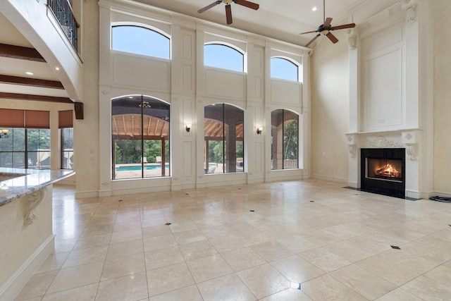
{"type": "Polygon", "coordinates": [[[403,290],[424,300],[450,300],[451,287],[425,276],[419,276],[401,286],[403,290]]]}

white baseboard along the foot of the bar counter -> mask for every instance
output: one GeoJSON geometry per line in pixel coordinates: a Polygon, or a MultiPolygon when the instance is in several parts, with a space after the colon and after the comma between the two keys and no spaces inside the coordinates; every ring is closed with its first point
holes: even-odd
{"type": "Polygon", "coordinates": [[[0,300],[14,300],[14,297],[22,290],[23,286],[30,280],[37,268],[44,260],[54,252],[54,238],[52,233],[47,240],[36,249],[33,254],[19,267],[4,285],[0,288],[0,300]]]}

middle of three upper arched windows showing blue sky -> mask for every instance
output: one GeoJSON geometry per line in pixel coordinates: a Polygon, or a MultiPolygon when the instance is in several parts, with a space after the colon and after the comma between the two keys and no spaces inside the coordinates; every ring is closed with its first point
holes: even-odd
{"type": "Polygon", "coordinates": [[[244,72],[245,56],[230,46],[223,44],[205,44],[204,65],[244,72]]]}

